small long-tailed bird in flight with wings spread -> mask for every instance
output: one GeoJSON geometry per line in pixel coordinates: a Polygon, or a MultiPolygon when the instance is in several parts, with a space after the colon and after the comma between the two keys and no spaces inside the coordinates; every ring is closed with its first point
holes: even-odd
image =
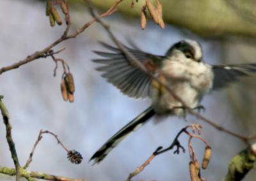
{"type": "MultiPolygon", "coordinates": [[[[97,70],[102,77],[125,95],[132,98],[152,100],[152,105],[134,120],[127,123],[97,150],[90,159],[94,163],[102,161],[131,132],[146,123],[155,114],[182,116],[184,106],[166,89],[145,74],[132,59],[118,48],[102,43],[111,52],[95,51],[104,59],[93,59],[101,64],[97,70]]],[[[137,49],[125,47],[154,76],[171,86],[174,93],[191,109],[200,107],[206,93],[225,88],[239,77],[256,72],[256,63],[238,65],[209,65],[202,59],[202,47],[194,40],[182,40],[168,49],[164,56],[157,56],[137,49]]]]}

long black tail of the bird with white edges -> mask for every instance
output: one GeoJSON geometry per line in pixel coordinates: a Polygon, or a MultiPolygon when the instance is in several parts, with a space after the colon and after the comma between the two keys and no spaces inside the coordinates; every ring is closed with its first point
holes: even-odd
{"type": "Polygon", "coordinates": [[[154,116],[155,111],[152,109],[152,107],[148,107],[143,113],[138,115],[134,120],[131,122],[127,123],[122,129],[120,129],[114,136],[112,136],[99,150],[94,153],[90,161],[94,160],[95,163],[99,163],[102,161],[108,153],[115,148],[120,141],[122,141],[126,136],[128,136],[131,132],[134,130],[138,129],[143,125],[144,123],[149,120],[152,116],[154,116]]]}

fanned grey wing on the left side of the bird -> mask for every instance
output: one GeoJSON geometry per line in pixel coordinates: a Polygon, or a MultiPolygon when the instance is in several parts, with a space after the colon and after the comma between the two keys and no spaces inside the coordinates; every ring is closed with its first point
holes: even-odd
{"type": "MultiPolygon", "coordinates": [[[[106,78],[109,83],[116,86],[122,93],[133,98],[145,98],[148,96],[151,79],[140,68],[136,67],[131,60],[119,49],[106,43],[101,43],[106,49],[112,52],[99,52],[96,54],[105,57],[105,59],[93,59],[94,62],[102,64],[97,70],[104,72],[102,77],[106,78]]],[[[160,58],[153,54],[143,51],[137,51],[125,47],[144,65],[154,67],[154,59],[160,58]]]]}

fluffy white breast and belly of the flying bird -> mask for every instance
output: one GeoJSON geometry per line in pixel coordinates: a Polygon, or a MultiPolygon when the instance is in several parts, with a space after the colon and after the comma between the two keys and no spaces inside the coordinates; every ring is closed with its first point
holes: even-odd
{"type": "MultiPolygon", "coordinates": [[[[161,72],[166,77],[166,83],[191,108],[197,107],[204,94],[212,87],[211,66],[203,62],[198,63],[188,59],[183,61],[166,59],[162,67],[161,72]]],[[[150,97],[152,98],[152,106],[157,113],[177,115],[183,113],[182,109],[175,109],[182,104],[173,98],[168,91],[152,86],[150,97]]]]}

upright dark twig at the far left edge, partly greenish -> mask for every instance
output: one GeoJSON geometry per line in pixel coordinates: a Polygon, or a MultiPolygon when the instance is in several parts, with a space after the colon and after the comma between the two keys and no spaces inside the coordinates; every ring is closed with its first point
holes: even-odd
{"type": "Polygon", "coordinates": [[[2,99],[3,99],[3,96],[0,96],[0,109],[3,116],[4,125],[6,127],[6,140],[8,142],[10,152],[12,154],[12,159],[15,165],[16,181],[20,181],[20,164],[19,164],[19,159],[18,159],[16,149],[15,149],[15,143],[13,142],[13,139],[12,139],[12,125],[10,123],[10,114],[8,112],[8,109],[4,105],[2,99]]]}

